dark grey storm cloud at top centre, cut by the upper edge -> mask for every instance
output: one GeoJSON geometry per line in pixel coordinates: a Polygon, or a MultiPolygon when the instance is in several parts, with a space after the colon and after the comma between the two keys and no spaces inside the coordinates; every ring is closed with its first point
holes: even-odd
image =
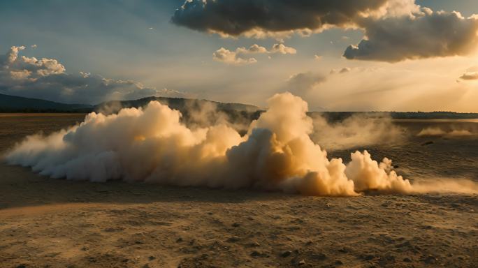
{"type": "Polygon", "coordinates": [[[248,31],[317,30],[352,24],[359,13],[384,6],[387,0],[192,0],[172,22],[197,31],[239,36],[248,31]]]}

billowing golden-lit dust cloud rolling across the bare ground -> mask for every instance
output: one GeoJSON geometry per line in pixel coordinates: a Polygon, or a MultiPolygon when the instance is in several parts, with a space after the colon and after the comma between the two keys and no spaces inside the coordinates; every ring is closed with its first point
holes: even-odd
{"type": "Polygon", "coordinates": [[[156,101],[118,114],[92,113],[68,130],[27,137],[6,161],[71,180],[122,179],[328,196],[445,191],[437,184],[410,183],[393,171],[389,159],[378,163],[367,151],[352,154],[347,165],[340,158],[328,159],[310,139],[314,125],[305,101],[277,94],[268,106],[244,136],[220,122],[188,128],[180,112],[156,101]]]}

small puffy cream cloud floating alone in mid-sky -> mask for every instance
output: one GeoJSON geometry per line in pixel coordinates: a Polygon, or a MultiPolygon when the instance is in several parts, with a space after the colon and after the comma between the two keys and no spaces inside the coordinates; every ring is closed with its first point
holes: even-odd
{"type": "Polygon", "coordinates": [[[274,44],[270,50],[260,45],[251,45],[249,48],[238,47],[235,51],[227,50],[221,47],[212,54],[212,59],[231,65],[255,64],[257,60],[254,57],[247,57],[249,54],[296,54],[294,47],[287,47],[282,43],[274,44]]]}

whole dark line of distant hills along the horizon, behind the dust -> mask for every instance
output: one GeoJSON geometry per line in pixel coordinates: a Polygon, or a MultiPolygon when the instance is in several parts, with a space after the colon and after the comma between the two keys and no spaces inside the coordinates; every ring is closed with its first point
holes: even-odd
{"type": "MultiPolygon", "coordinates": [[[[0,94],[0,112],[103,112],[111,114],[125,107],[144,107],[150,101],[159,101],[172,109],[189,117],[191,112],[214,110],[224,112],[230,119],[248,121],[259,117],[261,108],[241,103],[219,103],[217,101],[191,98],[148,97],[133,101],[107,101],[99,105],[66,104],[45,101],[38,98],[24,98],[0,94]]],[[[287,108],[287,107],[286,107],[287,108]]],[[[310,112],[310,115],[321,114],[329,121],[341,121],[353,114],[364,114],[367,117],[391,117],[393,119],[478,119],[478,113],[459,112],[310,112]]]]}

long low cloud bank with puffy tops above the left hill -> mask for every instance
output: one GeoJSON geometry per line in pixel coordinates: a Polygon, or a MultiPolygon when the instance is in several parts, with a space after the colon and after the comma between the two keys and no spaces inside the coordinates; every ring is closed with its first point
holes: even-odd
{"type": "Polygon", "coordinates": [[[25,49],[13,46],[0,56],[0,93],[89,104],[145,96],[184,96],[178,91],[145,87],[133,80],[114,80],[82,72],[68,74],[57,59],[20,56],[25,49]]]}

